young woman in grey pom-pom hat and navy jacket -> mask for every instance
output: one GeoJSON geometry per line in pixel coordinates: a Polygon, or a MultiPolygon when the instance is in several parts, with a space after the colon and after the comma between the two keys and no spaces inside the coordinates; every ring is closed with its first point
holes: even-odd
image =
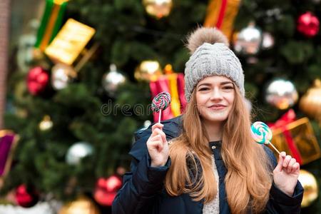
{"type": "Polygon", "coordinates": [[[300,213],[300,165],[250,136],[244,75],[216,29],[190,34],[188,106],[138,135],[113,213],[300,213]]]}

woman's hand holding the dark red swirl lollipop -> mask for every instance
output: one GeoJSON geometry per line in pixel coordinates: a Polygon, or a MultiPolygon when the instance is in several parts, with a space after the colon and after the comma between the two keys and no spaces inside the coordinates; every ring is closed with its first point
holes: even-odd
{"type": "Polygon", "coordinates": [[[163,126],[161,123],[155,123],[146,143],[149,156],[151,156],[151,167],[163,166],[168,160],[169,148],[163,126]]]}

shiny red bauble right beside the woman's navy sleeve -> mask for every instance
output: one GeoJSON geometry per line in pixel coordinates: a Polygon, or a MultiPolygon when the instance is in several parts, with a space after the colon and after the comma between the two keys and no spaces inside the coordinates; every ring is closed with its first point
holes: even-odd
{"type": "Polygon", "coordinates": [[[111,177],[107,179],[99,178],[96,183],[93,198],[95,198],[100,205],[111,206],[121,185],[121,178],[116,175],[111,175],[111,177]]]}

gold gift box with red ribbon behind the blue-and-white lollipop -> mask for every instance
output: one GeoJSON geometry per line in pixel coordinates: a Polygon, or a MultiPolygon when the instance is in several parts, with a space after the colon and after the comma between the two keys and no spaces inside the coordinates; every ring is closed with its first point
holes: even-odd
{"type": "MultiPolygon", "coordinates": [[[[284,128],[289,131],[292,136],[297,151],[300,153],[302,165],[321,157],[320,146],[317,143],[317,138],[315,138],[315,133],[308,118],[300,118],[297,121],[288,123],[284,128]]],[[[277,150],[280,152],[285,151],[292,156],[290,148],[287,146],[283,129],[273,128],[272,133],[273,138],[271,143],[273,143],[277,150]]],[[[272,149],[272,151],[274,150],[272,149]]],[[[277,156],[276,152],[275,155],[277,156]]]]}

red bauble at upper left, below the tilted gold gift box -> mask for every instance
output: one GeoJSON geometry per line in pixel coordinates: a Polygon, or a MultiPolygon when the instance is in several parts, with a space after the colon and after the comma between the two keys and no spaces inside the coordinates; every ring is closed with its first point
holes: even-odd
{"type": "Polygon", "coordinates": [[[40,66],[31,68],[27,76],[28,90],[32,95],[38,95],[46,88],[49,74],[40,66]]]}

